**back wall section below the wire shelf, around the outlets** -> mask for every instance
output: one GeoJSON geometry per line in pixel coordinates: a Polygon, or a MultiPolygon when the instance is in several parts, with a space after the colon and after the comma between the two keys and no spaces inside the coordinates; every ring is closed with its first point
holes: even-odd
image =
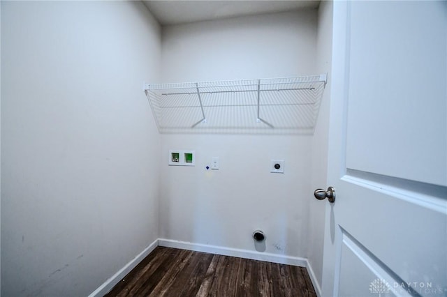
{"type": "Polygon", "coordinates": [[[163,135],[160,237],[303,257],[307,247],[309,137],[278,135],[163,135]],[[169,167],[169,148],[193,148],[195,167],[169,167]],[[219,170],[207,170],[212,157],[219,170]],[[284,159],[284,174],[270,160],[284,159]]]}

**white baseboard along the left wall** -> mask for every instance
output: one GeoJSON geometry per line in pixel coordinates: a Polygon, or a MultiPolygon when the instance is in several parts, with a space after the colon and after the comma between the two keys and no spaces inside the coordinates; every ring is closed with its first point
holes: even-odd
{"type": "Polygon", "coordinates": [[[103,284],[101,284],[98,289],[91,292],[89,297],[96,297],[96,296],[104,296],[108,293],[113,287],[115,287],[115,284],[117,284],[120,280],[122,280],[135,266],[137,266],[142,259],[145,259],[148,254],[150,254],[157,246],[159,245],[158,239],[151,243],[145,250],[140,252],[135,258],[133,258],[131,261],[129,261],[128,264],[126,264],[123,268],[119,269],[115,275],[110,277],[108,280],[106,280],[103,284]]]}

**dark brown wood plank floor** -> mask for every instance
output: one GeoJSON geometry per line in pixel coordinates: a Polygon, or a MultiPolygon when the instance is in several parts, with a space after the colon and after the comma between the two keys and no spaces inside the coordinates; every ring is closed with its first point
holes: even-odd
{"type": "Polygon", "coordinates": [[[316,296],[306,268],[157,247],[105,296],[316,296]]]}

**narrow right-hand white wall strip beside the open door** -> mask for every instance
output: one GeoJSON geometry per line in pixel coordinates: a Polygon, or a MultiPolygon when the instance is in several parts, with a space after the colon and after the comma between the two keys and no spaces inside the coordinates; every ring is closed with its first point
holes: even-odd
{"type": "MultiPolygon", "coordinates": [[[[307,259],[314,273],[318,286],[321,287],[323,273],[323,243],[325,224],[325,204],[327,200],[314,199],[313,192],[318,188],[326,189],[328,167],[328,130],[330,106],[330,82],[332,61],[332,1],[322,1],[318,8],[318,35],[317,35],[316,67],[318,73],[328,73],[328,84],[325,86],[321,100],[320,113],[316,121],[312,137],[312,162],[310,179],[309,201],[309,237],[307,239],[307,259]]],[[[319,290],[319,288],[315,288],[319,290]]]]}

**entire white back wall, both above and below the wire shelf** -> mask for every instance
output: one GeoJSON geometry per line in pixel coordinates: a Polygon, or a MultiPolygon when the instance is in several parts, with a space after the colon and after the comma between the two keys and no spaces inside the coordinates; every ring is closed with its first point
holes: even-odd
{"type": "MultiPolygon", "coordinates": [[[[163,28],[163,82],[316,74],[317,10],[163,28]]],[[[162,135],[160,237],[306,257],[311,135],[162,135]],[[170,149],[196,167],[169,167],[170,149]],[[219,157],[220,169],[205,169],[219,157]],[[284,174],[270,160],[285,161],[284,174]]]]}

